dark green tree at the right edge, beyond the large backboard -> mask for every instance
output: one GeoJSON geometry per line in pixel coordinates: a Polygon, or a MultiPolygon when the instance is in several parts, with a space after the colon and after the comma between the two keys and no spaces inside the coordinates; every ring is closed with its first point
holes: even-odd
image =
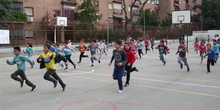
{"type": "Polygon", "coordinates": [[[203,29],[220,29],[220,0],[203,0],[202,4],[196,7],[202,11],[200,21],[203,29]]]}

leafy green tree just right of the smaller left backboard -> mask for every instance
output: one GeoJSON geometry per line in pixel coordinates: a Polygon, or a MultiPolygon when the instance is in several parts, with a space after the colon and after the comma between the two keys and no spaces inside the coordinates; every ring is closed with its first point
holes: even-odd
{"type": "Polygon", "coordinates": [[[79,12],[76,13],[76,18],[81,23],[93,23],[97,19],[101,19],[102,15],[98,15],[99,9],[95,6],[95,0],[85,0],[78,6],[79,12]]]}

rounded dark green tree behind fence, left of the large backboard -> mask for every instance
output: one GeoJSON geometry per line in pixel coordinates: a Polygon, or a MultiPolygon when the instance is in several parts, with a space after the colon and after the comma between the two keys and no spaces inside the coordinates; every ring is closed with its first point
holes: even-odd
{"type": "Polygon", "coordinates": [[[144,18],[145,24],[147,26],[158,26],[160,24],[159,17],[156,13],[151,12],[150,9],[146,9],[143,12],[143,16],[141,17],[140,25],[144,25],[144,18]],[[145,17],[144,17],[145,13],[145,17]]]}

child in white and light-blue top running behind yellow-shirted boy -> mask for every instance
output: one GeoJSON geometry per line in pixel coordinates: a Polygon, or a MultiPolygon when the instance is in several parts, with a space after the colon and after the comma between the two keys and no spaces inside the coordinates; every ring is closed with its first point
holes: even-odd
{"type": "Polygon", "coordinates": [[[64,47],[62,49],[62,53],[64,53],[66,59],[73,65],[74,69],[76,69],[76,64],[71,60],[71,53],[75,52],[73,48],[68,46],[68,42],[64,43],[64,47]]]}

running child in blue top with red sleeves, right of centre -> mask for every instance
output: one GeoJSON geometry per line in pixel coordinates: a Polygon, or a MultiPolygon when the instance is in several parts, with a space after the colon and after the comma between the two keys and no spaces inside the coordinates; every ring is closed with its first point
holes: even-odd
{"type": "Polygon", "coordinates": [[[160,60],[163,62],[163,65],[165,65],[165,64],[166,64],[166,60],[164,59],[163,55],[164,55],[164,54],[166,55],[166,53],[167,53],[170,49],[164,44],[164,40],[161,40],[161,41],[160,41],[160,45],[158,45],[158,46],[156,47],[156,49],[159,50],[160,60]]]}

